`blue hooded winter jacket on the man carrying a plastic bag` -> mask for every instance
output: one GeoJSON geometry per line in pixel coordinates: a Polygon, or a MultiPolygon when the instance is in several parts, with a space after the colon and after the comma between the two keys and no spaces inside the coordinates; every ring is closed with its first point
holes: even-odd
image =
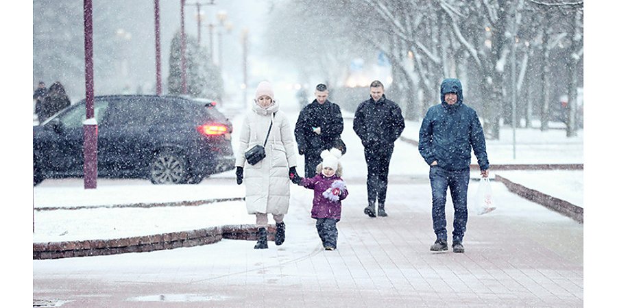
{"type": "Polygon", "coordinates": [[[418,150],[426,164],[435,160],[446,170],[469,168],[471,150],[478,159],[481,170],[489,168],[484,131],[478,114],[463,103],[463,87],[458,79],[445,79],[441,83],[441,104],[428,108],[422,126],[418,150]],[[446,93],[457,93],[458,101],[448,105],[446,93]]]}

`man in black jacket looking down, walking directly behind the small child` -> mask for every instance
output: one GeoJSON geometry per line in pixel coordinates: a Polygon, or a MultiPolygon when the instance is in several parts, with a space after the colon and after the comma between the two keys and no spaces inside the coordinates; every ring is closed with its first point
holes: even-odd
{"type": "Polygon", "coordinates": [[[326,85],[318,84],[315,100],[302,108],[295,123],[295,142],[300,155],[304,155],[304,177],[315,176],[315,168],[322,162],[319,153],[332,149],[341,139],[341,108],[328,101],[328,94],[326,85]]]}

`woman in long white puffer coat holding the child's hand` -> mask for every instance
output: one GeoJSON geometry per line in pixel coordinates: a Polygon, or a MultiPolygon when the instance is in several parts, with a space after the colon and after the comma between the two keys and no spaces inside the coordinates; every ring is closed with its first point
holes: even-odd
{"type": "Polygon", "coordinates": [[[269,82],[262,81],[257,86],[252,110],[246,115],[239,138],[236,180],[240,185],[244,179],[246,210],[256,216],[258,231],[255,249],[268,248],[268,214],[276,222],[274,242],[280,245],[285,241],[283,218],[289,209],[289,179],[295,182],[300,177],[295,171],[291,125],[285,112],[279,110],[269,82]],[[270,123],[272,127],[268,135],[270,123]],[[248,164],[245,152],[257,144],[263,145],[266,136],[265,157],[254,165],[248,164]]]}

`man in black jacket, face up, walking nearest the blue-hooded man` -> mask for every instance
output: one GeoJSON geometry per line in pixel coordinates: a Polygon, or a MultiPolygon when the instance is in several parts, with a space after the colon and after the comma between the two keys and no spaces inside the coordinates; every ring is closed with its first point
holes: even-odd
{"type": "Polygon", "coordinates": [[[378,216],[387,216],[385,197],[388,188],[390,158],[394,141],[398,139],[405,121],[400,107],[386,99],[383,84],[376,80],[371,83],[371,98],[358,106],[354,115],[354,131],[362,140],[367,165],[366,189],[368,206],[364,214],[375,217],[375,199],[378,202],[378,216]]]}

